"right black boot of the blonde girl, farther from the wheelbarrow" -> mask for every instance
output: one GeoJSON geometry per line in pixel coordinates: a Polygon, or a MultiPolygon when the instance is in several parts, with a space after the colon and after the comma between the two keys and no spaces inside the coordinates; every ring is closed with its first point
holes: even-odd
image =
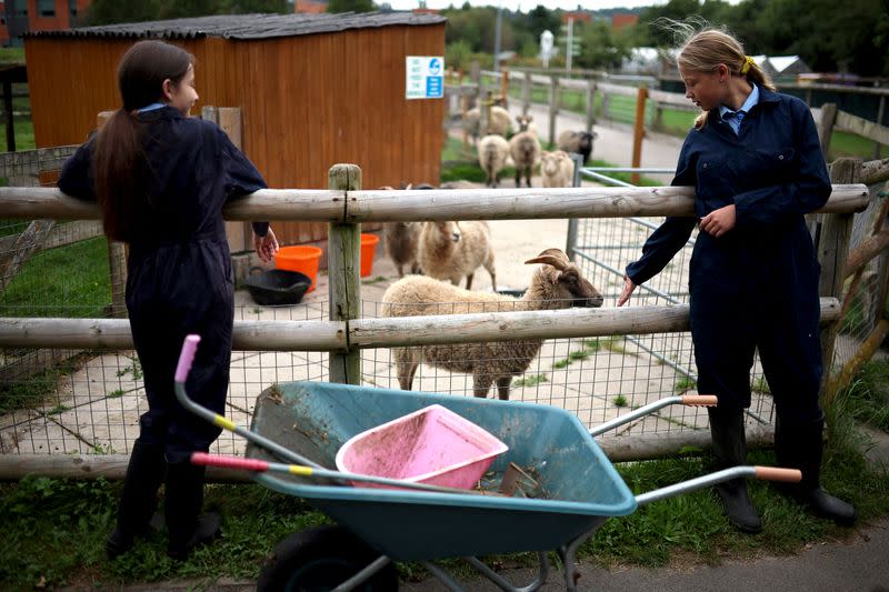
{"type": "Polygon", "coordinates": [[[778,490],[806,505],[815,515],[851,526],[858,518],[855,508],[821,489],[819,473],[825,450],[821,438],[823,429],[823,417],[799,425],[780,420],[776,422],[775,451],[778,464],[802,471],[802,481],[781,483],[778,490]]]}

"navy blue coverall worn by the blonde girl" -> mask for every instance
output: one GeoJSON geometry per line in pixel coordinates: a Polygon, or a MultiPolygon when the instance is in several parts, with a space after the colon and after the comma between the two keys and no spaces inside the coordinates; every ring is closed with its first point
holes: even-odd
{"type": "MultiPolygon", "coordinates": [[[[698,219],[731,203],[737,212],[722,237],[700,232],[691,257],[698,391],[723,409],[749,407],[759,348],[779,417],[818,420],[820,267],[803,214],[827,202],[830,179],[809,108],[760,87],[739,136],[712,109],[686,138],[672,184],[696,188],[698,219]]],[[[697,222],[668,218],[627,267],[630,280],[659,273],[697,222]]]]}

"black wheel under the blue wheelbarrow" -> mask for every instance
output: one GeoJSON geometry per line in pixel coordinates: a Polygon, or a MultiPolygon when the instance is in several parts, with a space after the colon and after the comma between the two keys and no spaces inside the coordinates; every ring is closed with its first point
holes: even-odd
{"type": "MultiPolygon", "coordinates": [[[[367,568],[380,553],[342,526],[319,526],[279,542],[259,573],[259,592],[322,592],[333,590],[367,568]]],[[[388,563],[359,592],[398,590],[398,571],[388,563]]]]}

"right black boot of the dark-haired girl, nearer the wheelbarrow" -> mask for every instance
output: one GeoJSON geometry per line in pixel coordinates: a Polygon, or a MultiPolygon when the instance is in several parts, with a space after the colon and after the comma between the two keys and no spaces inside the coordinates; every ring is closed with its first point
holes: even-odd
{"type": "Polygon", "coordinates": [[[203,505],[206,469],[190,462],[179,462],[170,464],[167,470],[167,554],[179,561],[188,559],[192,549],[212,541],[220,533],[219,514],[211,512],[199,515],[203,505]]]}

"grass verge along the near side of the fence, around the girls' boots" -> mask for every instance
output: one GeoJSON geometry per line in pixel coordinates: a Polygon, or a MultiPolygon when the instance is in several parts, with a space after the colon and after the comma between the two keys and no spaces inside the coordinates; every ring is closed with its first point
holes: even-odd
{"type": "MultiPolygon", "coordinates": [[[[883,364],[886,365],[886,364],[883,364]]],[[[840,393],[828,410],[830,441],[821,473],[823,486],[858,509],[861,520],[889,513],[889,473],[865,463],[862,443],[850,409],[879,389],[889,389],[887,369],[862,373],[858,394],[840,393]],[[870,394],[868,394],[870,393],[870,394]]],[[[612,401],[619,404],[620,395],[612,401]]],[[[879,407],[881,400],[871,401],[879,407]]],[[[626,401],[625,401],[626,403],[626,401]]],[[[101,451],[98,451],[101,453],[101,451]]],[[[775,464],[770,450],[750,453],[751,464],[775,464]]],[[[616,465],[635,494],[699,476],[710,456],[686,451],[677,458],[616,465]]],[[[259,485],[209,485],[206,506],[223,515],[223,536],[183,563],[163,553],[164,534],[147,541],[114,562],[104,558],[104,536],[113,526],[120,483],[26,478],[0,484],[0,588],[114,588],[172,579],[256,578],[274,544],[292,532],[328,522],[297,498],[259,485]]],[[[709,489],[659,501],[628,516],[606,521],[580,556],[600,565],[663,566],[683,562],[717,564],[726,558],[753,558],[798,552],[818,541],[850,532],[808,515],[763,482],[751,481],[753,503],[765,516],[757,535],[738,535],[725,520],[709,489]]],[[[529,562],[528,554],[486,558],[490,563],[529,562]]],[[[422,578],[421,566],[399,565],[403,579],[422,578]]],[[[468,570],[460,572],[466,576],[468,570]]]]}

